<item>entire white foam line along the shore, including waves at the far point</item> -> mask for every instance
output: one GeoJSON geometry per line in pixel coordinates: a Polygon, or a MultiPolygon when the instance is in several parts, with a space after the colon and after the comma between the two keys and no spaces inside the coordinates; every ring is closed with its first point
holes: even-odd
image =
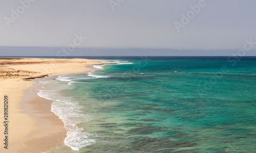
{"type": "MultiPolygon", "coordinates": [[[[118,60],[103,61],[103,63],[132,64],[128,61],[118,60]]],[[[102,70],[104,65],[93,65],[93,68],[102,70]]],[[[103,74],[104,73],[102,72],[98,73],[96,71],[91,71],[87,75],[60,75],[54,80],[43,79],[44,81],[38,82],[42,84],[42,88],[38,90],[39,92],[37,95],[53,101],[51,111],[59,116],[59,119],[62,120],[67,129],[67,137],[65,138],[64,143],[73,150],[79,150],[80,148],[96,143],[96,140],[89,139],[90,136],[96,134],[86,133],[83,128],[78,127],[78,124],[92,120],[93,116],[82,114],[79,110],[81,110],[83,106],[74,101],[72,97],[61,95],[60,92],[65,89],[71,89],[72,86],[70,86],[70,84],[77,83],[77,80],[110,77],[103,74]],[[65,85],[63,82],[69,83],[65,85]]]]}

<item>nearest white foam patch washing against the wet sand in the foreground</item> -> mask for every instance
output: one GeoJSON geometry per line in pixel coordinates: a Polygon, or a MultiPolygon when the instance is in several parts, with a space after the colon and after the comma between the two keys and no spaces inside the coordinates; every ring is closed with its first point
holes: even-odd
{"type": "Polygon", "coordinates": [[[88,138],[94,134],[83,132],[84,129],[78,127],[78,124],[92,120],[93,116],[82,114],[81,111],[79,111],[82,106],[79,105],[78,102],[73,101],[72,97],[63,97],[60,94],[61,87],[63,87],[62,90],[68,89],[67,87],[64,87],[63,84],[57,82],[54,84],[52,83],[53,82],[51,81],[51,84],[45,85],[54,85],[55,90],[39,90],[37,95],[53,101],[51,111],[59,116],[59,119],[62,120],[67,129],[67,137],[64,141],[65,145],[73,150],[79,150],[80,148],[95,143],[94,139],[88,138]]]}

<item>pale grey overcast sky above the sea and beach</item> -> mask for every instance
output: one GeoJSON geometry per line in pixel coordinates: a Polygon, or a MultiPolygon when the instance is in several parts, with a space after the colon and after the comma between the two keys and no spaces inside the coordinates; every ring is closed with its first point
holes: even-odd
{"type": "Polygon", "coordinates": [[[256,55],[255,6],[255,0],[1,1],[0,56],[26,51],[16,47],[165,49],[168,55],[246,48],[243,55],[256,55]]]}

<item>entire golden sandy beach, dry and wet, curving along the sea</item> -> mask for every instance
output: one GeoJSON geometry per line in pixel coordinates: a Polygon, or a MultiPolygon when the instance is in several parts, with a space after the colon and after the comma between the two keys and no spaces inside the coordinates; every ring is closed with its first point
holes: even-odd
{"type": "MultiPolygon", "coordinates": [[[[102,63],[89,59],[0,58],[0,93],[2,102],[8,96],[9,121],[8,149],[1,143],[0,152],[43,152],[62,145],[64,125],[51,112],[52,101],[37,96],[33,79],[89,72],[88,66],[93,64],[102,63]]],[[[4,104],[0,110],[4,121],[4,104]]],[[[0,131],[4,139],[5,126],[0,131]]]]}

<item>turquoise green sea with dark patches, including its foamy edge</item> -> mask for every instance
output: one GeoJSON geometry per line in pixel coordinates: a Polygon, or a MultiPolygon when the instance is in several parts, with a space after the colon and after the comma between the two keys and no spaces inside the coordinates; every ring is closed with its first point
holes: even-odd
{"type": "Polygon", "coordinates": [[[120,61],[40,80],[68,129],[55,151],[255,152],[256,60],[120,61]]]}

